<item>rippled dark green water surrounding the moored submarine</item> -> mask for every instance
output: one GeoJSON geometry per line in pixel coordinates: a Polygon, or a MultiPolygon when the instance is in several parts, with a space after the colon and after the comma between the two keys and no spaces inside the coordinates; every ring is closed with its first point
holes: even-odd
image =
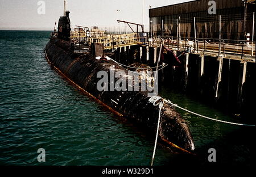
{"type": "MultiPolygon", "coordinates": [[[[0,31],[0,165],[150,165],[155,135],[121,119],[65,81],[44,57],[49,31],[0,31]],[[46,162],[38,162],[39,148],[46,162]]],[[[237,121],[168,89],[160,93],[182,107],[237,121]]],[[[191,128],[191,157],[159,144],[155,165],[251,165],[253,130],[217,123],[178,110],[191,128]]]]}

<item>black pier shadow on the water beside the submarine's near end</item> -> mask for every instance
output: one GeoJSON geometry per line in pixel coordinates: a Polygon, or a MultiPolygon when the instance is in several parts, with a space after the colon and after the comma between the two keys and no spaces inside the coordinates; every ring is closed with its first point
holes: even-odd
{"type": "MultiPolygon", "coordinates": [[[[173,103],[190,111],[200,113],[214,119],[237,122],[237,119],[219,111],[214,107],[207,106],[195,99],[190,99],[183,94],[162,88],[160,95],[172,100],[173,103]]],[[[255,165],[254,134],[255,127],[242,127],[229,125],[204,119],[176,108],[187,122],[195,141],[195,155],[178,153],[172,155],[167,166],[187,166],[189,168],[209,167],[213,169],[223,167],[252,167],[255,165]],[[209,162],[212,157],[210,148],[216,150],[216,162],[209,162]]]]}

